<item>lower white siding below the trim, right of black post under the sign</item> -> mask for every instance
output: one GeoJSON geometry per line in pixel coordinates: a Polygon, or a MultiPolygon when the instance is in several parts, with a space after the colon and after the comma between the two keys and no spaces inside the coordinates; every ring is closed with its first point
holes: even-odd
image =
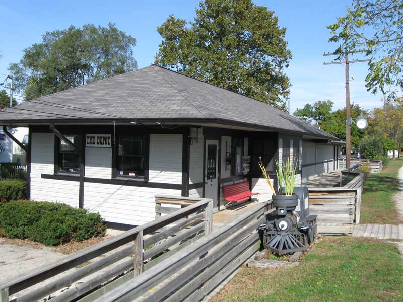
{"type": "Polygon", "coordinates": [[[155,219],[155,195],[181,190],[84,183],[84,208],[106,221],[140,225],[155,219]]]}

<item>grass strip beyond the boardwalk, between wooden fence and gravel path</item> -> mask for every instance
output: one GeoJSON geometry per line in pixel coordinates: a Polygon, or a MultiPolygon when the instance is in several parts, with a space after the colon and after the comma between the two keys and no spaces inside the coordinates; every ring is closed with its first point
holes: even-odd
{"type": "Polygon", "coordinates": [[[389,161],[382,172],[370,174],[365,179],[364,193],[361,199],[360,223],[399,224],[398,214],[392,200],[397,192],[397,174],[403,165],[403,159],[389,161]]]}

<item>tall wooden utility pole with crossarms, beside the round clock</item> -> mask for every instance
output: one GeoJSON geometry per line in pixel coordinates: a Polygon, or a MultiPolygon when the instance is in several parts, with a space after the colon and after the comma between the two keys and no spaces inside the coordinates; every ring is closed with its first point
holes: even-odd
{"type": "MultiPolygon", "coordinates": [[[[369,60],[353,60],[349,61],[349,53],[346,52],[344,55],[344,61],[339,62],[324,62],[323,65],[332,65],[332,64],[345,64],[346,66],[346,168],[350,168],[350,159],[351,159],[351,124],[352,118],[350,116],[350,77],[349,77],[349,65],[352,63],[359,62],[368,62],[369,60]]],[[[340,55],[340,53],[323,53],[324,56],[328,55],[340,55]]]]}

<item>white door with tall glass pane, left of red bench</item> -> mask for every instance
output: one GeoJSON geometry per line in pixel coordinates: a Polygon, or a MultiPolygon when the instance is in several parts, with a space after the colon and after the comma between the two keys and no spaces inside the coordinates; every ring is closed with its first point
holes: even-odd
{"type": "Polygon", "coordinates": [[[218,206],[218,140],[206,140],[205,198],[212,198],[218,206]]]}

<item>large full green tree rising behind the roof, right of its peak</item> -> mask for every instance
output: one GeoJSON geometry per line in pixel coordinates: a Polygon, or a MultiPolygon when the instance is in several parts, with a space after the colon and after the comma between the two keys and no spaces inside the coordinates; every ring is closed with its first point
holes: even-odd
{"type": "Polygon", "coordinates": [[[205,0],[194,21],[173,15],[157,28],[155,63],[286,111],[291,52],[274,12],[251,0],[205,0]]]}

